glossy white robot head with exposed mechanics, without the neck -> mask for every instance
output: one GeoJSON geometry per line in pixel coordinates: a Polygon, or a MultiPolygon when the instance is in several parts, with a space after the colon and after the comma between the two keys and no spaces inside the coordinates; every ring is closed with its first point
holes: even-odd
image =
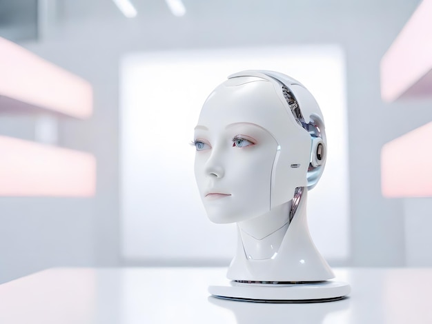
{"type": "Polygon", "coordinates": [[[215,223],[251,219],[312,189],[326,161],[321,110],[284,74],[243,71],[208,97],[195,128],[195,177],[215,223]]]}

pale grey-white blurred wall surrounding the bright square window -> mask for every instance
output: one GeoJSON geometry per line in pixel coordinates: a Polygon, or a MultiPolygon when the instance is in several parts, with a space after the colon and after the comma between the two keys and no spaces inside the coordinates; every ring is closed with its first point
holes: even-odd
{"type": "MultiPolygon", "coordinates": [[[[64,204],[62,200],[0,199],[0,228],[19,237],[14,241],[10,235],[0,235],[0,281],[55,264],[122,263],[118,199],[121,54],[245,45],[343,46],[351,197],[349,264],[404,265],[402,202],[381,196],[380,149],[387,141],[431,120],[431,101],[382,103],[379,63],[418,0],[185,0],[188,12],[183,18],[173,17],[164,1],[135,2],[139,16],[128,20],[111,1],[58,0],[59,16],[45,39],[23,44],[88,79],[95,87],[94,117],[79,123],[60,121],[59,141],[66,147],[95,153],[97,196],[91,201],[66,199],[64,204]],[[401,115],[405,118],[400,119],[401,115]],[[14,205],[17,201],[19,204],[14,205]],[[39,203],[43,208],[34,212],[39,203]],[[59,209],[53,207],[57,203],[59,209]],[[34,230],[20,230],[28,224],[34,230]],[[70,236],[62,235],[65,226],[72,231],[70,236]],[[68,258],[61,259],[43,244],[46,235],[52,245],[68,253],[68,258]],[[3,270],[5,265],[8,271],[3,270]]],[[[15,130],[26,132],[21,117],[14,119],[15,130]]],[[[0,133],[2,129],[0,123],[0,133]]]]}

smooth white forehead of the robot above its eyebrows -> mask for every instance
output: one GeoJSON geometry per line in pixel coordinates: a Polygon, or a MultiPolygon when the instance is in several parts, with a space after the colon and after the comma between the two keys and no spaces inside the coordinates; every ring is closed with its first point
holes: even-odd
{"type": "Polygon", "coordinates": [[[222,128],[232,123],[254,123],[273,133],[275,128],[286,128],[291,122],[270,82],[239,77],[228,79],[210,94],[198,121],[198,125],[206,128],[222,128]]]}

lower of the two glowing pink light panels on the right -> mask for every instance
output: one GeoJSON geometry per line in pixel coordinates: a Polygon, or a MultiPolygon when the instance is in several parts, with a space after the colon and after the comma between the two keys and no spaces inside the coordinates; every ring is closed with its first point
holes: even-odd
{"type": "Polygon", "coordinates": [[[432,196],[432,123],[386,143],[381,150],[381,190],[389,198],[432,196]]]}

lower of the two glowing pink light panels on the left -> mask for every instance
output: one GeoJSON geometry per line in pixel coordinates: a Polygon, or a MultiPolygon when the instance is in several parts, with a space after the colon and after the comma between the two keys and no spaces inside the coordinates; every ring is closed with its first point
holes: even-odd
{"type": "Polygon", "coordinates": [[[95,156],[0,136],[0,196],[94,196],[95,156]]]}

